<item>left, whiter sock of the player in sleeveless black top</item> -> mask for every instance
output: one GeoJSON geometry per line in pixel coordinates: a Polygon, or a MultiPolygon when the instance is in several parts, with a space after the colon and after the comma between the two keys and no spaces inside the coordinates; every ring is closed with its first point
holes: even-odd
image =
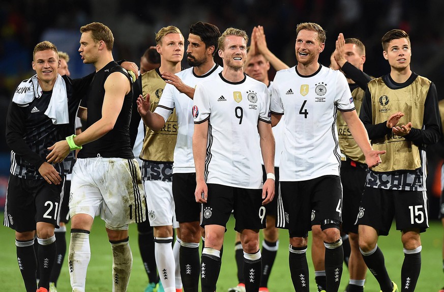
{"type": "Polygon", "coordinates": [[[90,258],[90,231],[80,229],[76,229],[76,231],[71,230],[68,265],[73,292],[85,291],[86,270],[90,263],[90,258]]]}

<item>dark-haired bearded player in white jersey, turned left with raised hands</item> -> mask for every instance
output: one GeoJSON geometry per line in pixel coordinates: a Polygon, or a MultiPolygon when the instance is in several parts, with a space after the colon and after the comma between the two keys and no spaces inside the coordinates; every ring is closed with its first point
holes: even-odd
{"type": "MultiPolygon", "coordinates": [[[[170,114],[176,111],[177,140],[172,166],[172,193],[176,220],[181,230],[180,267],[185,292],[197,292],[199,284],[200,204],[196,203],[192,137],[193,96],[197,83],[216,78],[222,71],[213,59],[220,36],[219,28],[211,23],[196,22],[190,27],[187,47],[187,62],[192,68],[177,74],[161,72],[166,81],[162,98],[154,112],[147,111],[143,121],[154,131],[165,126],[170,114]]],[[[138,99],[139,107],[146,101],[138,99]]]]}

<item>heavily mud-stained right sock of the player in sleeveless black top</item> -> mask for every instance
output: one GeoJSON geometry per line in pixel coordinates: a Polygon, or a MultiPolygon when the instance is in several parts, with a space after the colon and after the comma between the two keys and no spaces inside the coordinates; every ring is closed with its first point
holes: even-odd
{"type": "Polygon", "coordinates": [[[111,242],[112,250],[112,292],[126,292],[130,281],[133,255],[128,238],[118,242],[111,242]]]}

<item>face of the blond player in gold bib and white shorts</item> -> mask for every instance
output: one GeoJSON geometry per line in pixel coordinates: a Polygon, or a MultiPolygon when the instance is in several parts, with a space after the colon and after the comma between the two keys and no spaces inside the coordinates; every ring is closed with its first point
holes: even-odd
{"type": "Polygon", "coordinates": [[[167,62],[179,63],[184,57],[184,36],[182,34],[166,34],[156,46],[162,59],[167,62]]]}

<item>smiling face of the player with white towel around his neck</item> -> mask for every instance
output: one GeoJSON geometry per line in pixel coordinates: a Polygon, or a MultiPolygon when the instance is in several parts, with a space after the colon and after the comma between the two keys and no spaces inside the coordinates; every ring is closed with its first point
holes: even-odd
{"type": "Polygon", "coordinates": [[[54,50],[38,51],[34,54],[33,69],[37,73],[37,78],[44,82],[51,82],[57,78],[59,65],[60,61],[54,50]]]}

